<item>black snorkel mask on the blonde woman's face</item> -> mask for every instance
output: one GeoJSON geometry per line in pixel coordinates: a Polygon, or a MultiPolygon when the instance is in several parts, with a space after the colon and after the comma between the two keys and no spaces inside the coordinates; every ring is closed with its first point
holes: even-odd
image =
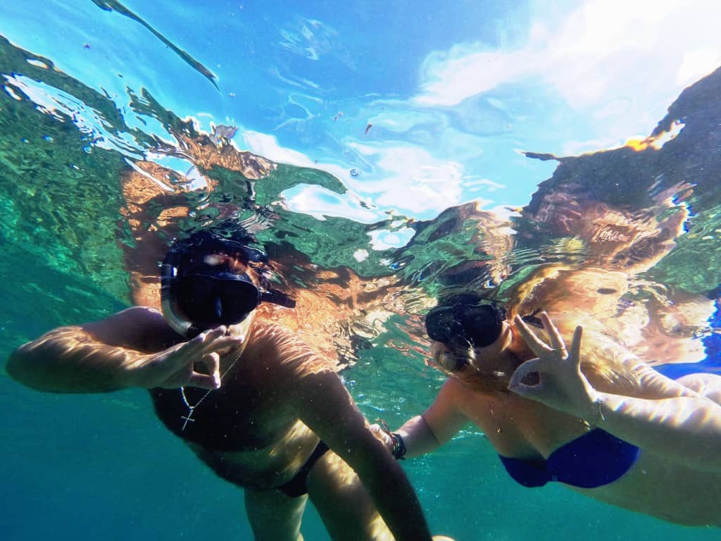
{"type": "Polygon", "coordinates": [[[425,316],[425,330],[435,342],[468,343],[482,348],[498,339],[504,320],[505,309],[495,302],[461,298],[431,309],[425,316]]]}

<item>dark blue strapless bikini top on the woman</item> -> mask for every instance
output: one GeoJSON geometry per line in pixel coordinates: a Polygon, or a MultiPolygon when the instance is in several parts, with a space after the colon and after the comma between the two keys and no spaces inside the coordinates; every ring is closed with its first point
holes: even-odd
{"type": "Polygon", "coordinates": [[[631,469],[640,449],[596,428],[562,445],[548,459],[500,457],[508,474],[526,487],[559,481],[580,488],[613,483],[631,469]]]}

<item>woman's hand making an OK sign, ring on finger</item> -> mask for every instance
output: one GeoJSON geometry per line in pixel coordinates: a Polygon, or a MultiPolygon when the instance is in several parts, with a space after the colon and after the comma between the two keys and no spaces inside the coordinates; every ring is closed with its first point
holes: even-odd
{"type": "Polygon", "coordinates": [[[520,317],[514,321],[518,332],[536,354],[536,359],[518,366],[510,378],[508,389],[574,417],[587,421],[596,419],[597,393],[580,369],[583,327],[576,327],[570,351],[567,351],[563,338],[546,312],[541,314],[541,321],[549,335],[550,344],[539,339],[520,317]],[[523,383],[523,379],[533,373],[538,374],[538,383],[523,383]]]}

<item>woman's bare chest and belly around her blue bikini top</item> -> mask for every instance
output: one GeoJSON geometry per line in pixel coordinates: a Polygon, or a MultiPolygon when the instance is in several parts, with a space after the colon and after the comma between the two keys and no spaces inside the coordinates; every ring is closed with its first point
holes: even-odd
{"type": "MultiPolygon", "coordinates": [[[[580,419],[516,395],[462,392],[459,404],[464,413],[503,457],[537,464],[588,434],[588,426],[580,419]]],[[[583,457],[578,459],[583,461],[583,457]]],[[[588,465],[590,469],[597,467],[604,465],[588,465]]],[[[623,475],[609,484],[595,488],[565,484],[599,501],[669,522],[721,525],[721,474],[694,470],[644,449],[623,475]]]]}

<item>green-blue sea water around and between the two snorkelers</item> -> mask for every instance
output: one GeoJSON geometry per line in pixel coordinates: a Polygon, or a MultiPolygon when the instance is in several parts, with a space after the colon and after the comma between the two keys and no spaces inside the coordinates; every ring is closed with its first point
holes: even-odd
{"type": "MultiPolygon", "coordinates": [[[[133,133],[141,144],[154,144],[125,126],[122,116],[101,94],[59,72],[35,68],[26,61],[29,53],[7,42],[0,47],[4,73],[22,71],[53,84],[102,115],[111,126],[109,131],[133,133]]],[[[716,240],[721,225],[717,217],[719,79],[715,74],[697,88],[699,95],[683,102],[686,109],[678,117],[684,119],[686,131],[664,146],[663,152],[624,150],[619,151],[622,154],[563,162],[558,176],[545,184],[552,189],[562,175],[612,172],[614,179],[627,179],[628,186],[643,186],[638,194],[619,190],[623,194],[619,197],[628,201],[642,198],[653,183],[649,179],[658,179],[657,169],[663,171],[658,181],[661,185],[673,185],[679,177],[689,180],[696,188],[684,201],[694,207],[694,229],[679,239],[676,250],[647,278],[704,294],[718,285],[721,268],[716,240]]],[[[17,100],[0,92],[2,359],[12,348],[45,330],[110,315],[127,306],[131,298],[123,270],[123,247],[133,247],[133,238],[119,212],[125,205],[120,185],[128,168],[124,155],[97,145],[86,151],[89,136],[64,113],[50,115],[19,90],[14,94],[17,100]]],[[[131,107],[169,128],[190,130],[152,97],[138,99],[131,107]]],[[[231,201],[255,225],[267,225],[267,213],[273,211],[270,226],[259,226],[257,232],[259,240],[273,250],[280,252],[288,243],[317,268],[345,266],[358,276],[391,277],[400,284],[407,311],[392,317],[370,338],[366,336],[372,347],[356,351],[354,366],[343,374],[368,418],[382,415],[397,426],[430,404],[443,377],[423,366],[420,354],[404,355],[402,348],[383,346],[394,341],[412,345],[407,330],[413,328],[412,318],[420,314],[422,297],[433,296],[443,285],[444,272],[454,265],[487,259],[475,250],[477,243],[487,240],[474,236],[482,218],[470,214],[459,219],[451,211],[427,223],[402,216],[370,225],[340,218],[318,221],[273,202],[299,182],[342,190],[340,182],[327,173],[281,164],[263,182],[255,182],[252,197],[246,189],[247,179],[237,172],[216,167],[203,173],[218,181],[218,188],[208,195],[210,203],[231,201]],[[366,243],[369,231],[393,226],[396,221],[415,229],[412,244],[371,252],[361,262],[353,257],[358,246],[366,243]]],[[[603,189],[603,175],[588,178],[581,189],[588,192],[593,186],[603,189]]],[[[203,208],[208,208],[207,202],[203,200],[203,208]]],[[[212,204],[210,208],[210,221],[218,219],[218,214],[212,214],[212,204]]],[[[532,231],[533,225],[516,224],[519,231],[524,227],[532,231]]],[[[190,229],[198,226],[198,220],[188,219],[179,226],[190,229]]],[[[557,240],[544,232],[530,234],[525,245],[504,257],[521,271],[524,265],[531,268],[549,258],[571,260],[575,254],[556,250],[557,240]]],[[[321,281],[307,268],[301,270],[286,277],[288,283],[312,287],[321,281]]],[[[480,283],[486,278],[476,274],[468,282],[480,283]]],[[[216,479],[162,430],[145,393],[48,395],[27,390],[2,374],[0,411],[6,427],[0,473],[4,501],[1,539],[250,538],[242,493],[216,479]]],[[[510,482],[490,445],[471,428],[433,456],[408,460],[404,467],[433,531],[458,540],[696,541],[720,536],[717,529],[665,524],[559,486],[533,491],[522,488],[510,482]]],[[[327,538],[312,509],[304,533],[307,540],[327,538]]]]}

